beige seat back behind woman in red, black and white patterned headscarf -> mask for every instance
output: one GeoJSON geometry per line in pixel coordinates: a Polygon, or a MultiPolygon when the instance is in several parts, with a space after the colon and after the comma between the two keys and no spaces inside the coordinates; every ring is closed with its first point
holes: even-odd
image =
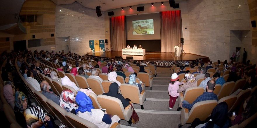
{"type": "Polygon", "coordinates": [[[65,125],[68,125],[68,127],[74,127],[66,118],[65,115],[67,111],[63,109],[60,105],[53,102],[51,99],[48,99],[46,101],[47,105],[50,107],[50,109],[54,112],[55,116],[58,117],[60,122],[64,123],[65,125]]]}

